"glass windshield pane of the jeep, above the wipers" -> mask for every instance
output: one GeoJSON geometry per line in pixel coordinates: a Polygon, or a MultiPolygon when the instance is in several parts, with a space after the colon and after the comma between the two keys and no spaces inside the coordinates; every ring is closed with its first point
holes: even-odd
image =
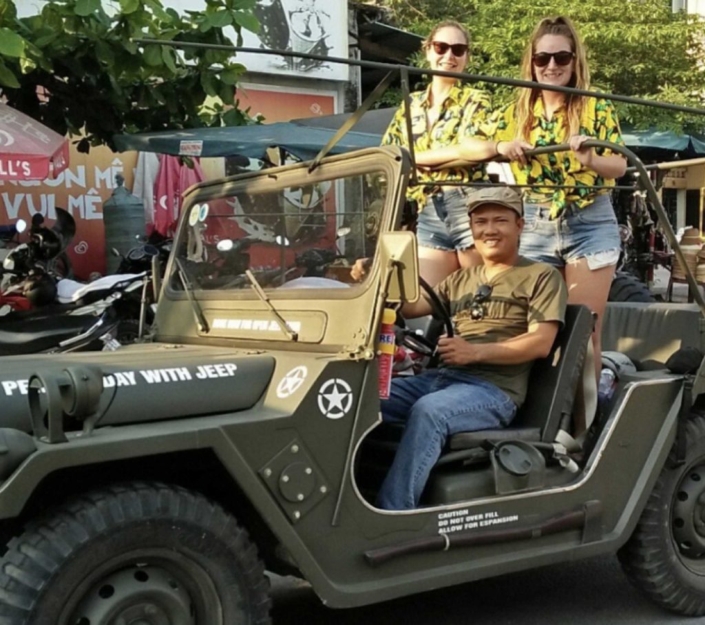
{"type": "MultiPolygon", "coordinates": [[[[185,206],[176,258],[194,291],[255,297],[248,270],[264,290],[344,289],[355,261],[374,256],[386,172],[287,186],[276,171],[238,178],[185,206]]],[[[176,268],[169,286],[184,290],[176,268]]]]}

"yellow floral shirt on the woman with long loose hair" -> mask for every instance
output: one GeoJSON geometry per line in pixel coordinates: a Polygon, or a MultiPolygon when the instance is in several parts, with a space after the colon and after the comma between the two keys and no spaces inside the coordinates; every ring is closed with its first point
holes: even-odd
{"type": "MultiPolygon", "coordinates": [[[[494,141],[511,141],[517,138],[515,104],[497,109],[482,127],[479,135],[494,141]]],[[[568,120],[561,107],[547,120],[544,101],[538,98],[534,105],[534,127],[529,134],[529,143],[536,147],[567,143],[568,120]]],[[[580,135],[587,135],[624,145],[619,122],[611,101],[589,98],[580,120],[580,135]]],[[[611,149],[596,149],[599,156],[615,154],[611,149]]],[[[526,166],[511,163],[514,177],[519,185],[529,185],[525,199],[529,202],[551,202],[551,218],[558,217],[568,204],[580,209],[592,204],[597,194],[608,193],[605,189],[592,189],[591,185],[614,186],[613,178],[605,179],[595,171],[585,168],[572,151],[554,152],[532,156],[526,166]],[[542,185],[534,186],[535,182],[542,185]],[[570,189],[552,189],[553,185],[568,185],[570,189]]]]}

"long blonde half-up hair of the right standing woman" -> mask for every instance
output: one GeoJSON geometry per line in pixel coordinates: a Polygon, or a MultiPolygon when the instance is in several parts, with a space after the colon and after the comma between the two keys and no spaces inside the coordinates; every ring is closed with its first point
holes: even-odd
{"type": "MultiPolygon", "coordinates": [[[[521,76],[524,80],[536,80],[534,73],[533,56],[536,44],[544,35],[562,35],[570,41],[570,49],[575,57],[573,59],[573,73],[568,82],[568,87],[577,89],[590,88],[590,70],[587,66],[587,54],[580,37],[575,30],[570,18],[558,16],[544,18],[539,22],[527,45],[522,57],[521,76]]],[[[517,133],[520,139],[529,140],[529,134],[534,127],[534,104],[541,93],[541,89],[522,89],[515,107],[517,120],[517,133]]],[[[580,132],[580,119],[587,104],[587,98],[574,94],[565,94],[565,110],[568,113],[568,137],[580,132]]],[[[568,137],[562,137],[567,139],[568,137]]]]}

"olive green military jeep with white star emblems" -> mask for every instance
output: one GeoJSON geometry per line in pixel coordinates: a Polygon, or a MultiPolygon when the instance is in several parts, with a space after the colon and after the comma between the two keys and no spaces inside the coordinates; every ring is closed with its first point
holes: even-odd
{"type": "Polygon", "coordinates": [[[694,304],[610,307],[605,348],[651,366],[587,432],[569,307],[512,426],[454,435],[419,509],[375,507],[381,316],[420,291],[409,172],[384,147],[198,185],[154,342],[0,361],[0,623],[262,624],[265,570],[353,607],[605,552],[705,614],[705,380],[663,365],[703,346],[694,304]]]}

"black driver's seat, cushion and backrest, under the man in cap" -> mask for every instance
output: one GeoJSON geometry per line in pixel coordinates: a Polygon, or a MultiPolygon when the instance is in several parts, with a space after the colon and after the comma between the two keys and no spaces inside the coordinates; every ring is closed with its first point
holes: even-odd
{"type": "MultiPolygon", "coordinates": [[[[565,323],[558,330],[551,352],[546,358],[534,361],[525,402],[511,425],[454,434],[448,439],[446,450],[453,454],[503,440],[550,444],[559,431],[570,432],[578,380],[582,377],[593,328],[594,318],[587,307],[568,304],[565,323]]],[[[439,462],[443,464],[443,456],[439,462]]]]}

